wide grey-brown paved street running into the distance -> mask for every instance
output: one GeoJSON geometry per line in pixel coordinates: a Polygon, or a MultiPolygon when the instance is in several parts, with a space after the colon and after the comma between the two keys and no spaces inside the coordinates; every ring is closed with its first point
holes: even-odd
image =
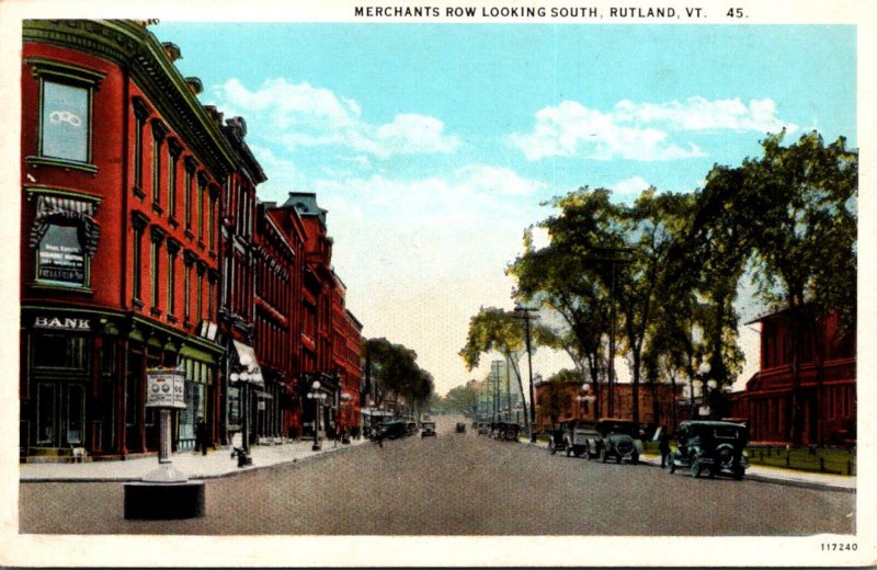
{"type": "Polygon", "coordinates": [[[809,535],[855,532],[855,493],[692,479],[453,433],[206,480],[207,514],[125,521],[122,482],[23,482],[22,533],[809,535]],[[62,516],[59,516],[62,513],[62,516]]]}

